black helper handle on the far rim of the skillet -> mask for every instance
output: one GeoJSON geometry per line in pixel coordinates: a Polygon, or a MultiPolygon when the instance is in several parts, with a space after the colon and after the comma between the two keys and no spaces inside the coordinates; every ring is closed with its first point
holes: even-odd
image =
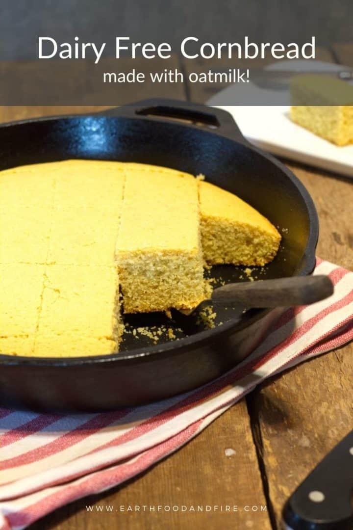
{"type": "Polygon", "coordinates": [[[249,145],[229,112],[215,107],[206,107],[199,103],[171,99],[147,99],[101,113],[106,116],[123,118],[169,118],[179,123],[186,121],[188,126],[209,130],[243,145],[249,145]]]}

